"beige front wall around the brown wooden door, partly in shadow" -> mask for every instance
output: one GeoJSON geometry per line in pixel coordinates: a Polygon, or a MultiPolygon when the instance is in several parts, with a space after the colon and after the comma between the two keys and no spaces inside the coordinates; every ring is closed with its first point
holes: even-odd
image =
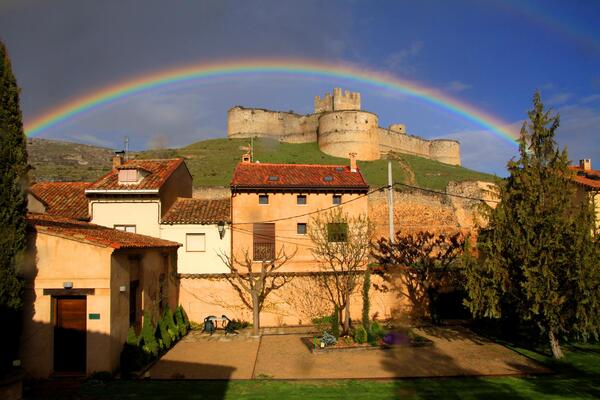
{"type": "Polygon", "coordinates": [[[86,320],[87,372],[106,371],[110,351],[110,258],[112,249],[65,240],[38,233],[31,239],[27,267],[21,359],[33,377],[46,378],[53,370],[52,298],[44,289],[62,289],[73,282],[74,289],[95,289],[87,296],[86,314],[99,313],[99,320],[86,320]],[[103,349],[98,351],[98,349],[103,349]]]}

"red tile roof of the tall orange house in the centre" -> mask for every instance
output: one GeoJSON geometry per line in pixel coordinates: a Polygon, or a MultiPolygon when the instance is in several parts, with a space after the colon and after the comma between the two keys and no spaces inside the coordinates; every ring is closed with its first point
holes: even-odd
{"type": "Polygon", "coordinates": [[[368,190],[360,169],[317,164],[239,163],[233,171],[234,189],[360,189],[368,190]]]}

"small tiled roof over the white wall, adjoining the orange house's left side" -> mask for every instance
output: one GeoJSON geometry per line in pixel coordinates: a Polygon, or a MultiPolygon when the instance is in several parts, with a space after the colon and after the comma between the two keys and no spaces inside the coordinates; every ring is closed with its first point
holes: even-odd
{"type": "Polygon", "coordinates": [[[231,222],[231,201],[178,198],[162,219],[164,224],[231,222]]]}

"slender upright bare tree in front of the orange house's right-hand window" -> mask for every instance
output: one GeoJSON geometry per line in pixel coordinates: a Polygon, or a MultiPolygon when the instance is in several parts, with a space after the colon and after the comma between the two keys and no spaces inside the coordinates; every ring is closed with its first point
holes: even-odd
{"type": "Polygon", "coordinates": [[[371,231],[365,215],[350,217],[339,208],[317,214],[309,226],[311,251],[322,272],[319,283],[339,310],[344,334],[350,330],[350,296],[369,262],[371,231]]]}

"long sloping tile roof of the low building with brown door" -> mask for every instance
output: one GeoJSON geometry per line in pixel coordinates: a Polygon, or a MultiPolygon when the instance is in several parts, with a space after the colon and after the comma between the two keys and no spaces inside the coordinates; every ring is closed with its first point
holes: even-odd
{"type": "Polygon", "coordinates": [[[178,248],[179,243],[48,214],[27,214],[37,232],[114,249],[178,248]]]}

